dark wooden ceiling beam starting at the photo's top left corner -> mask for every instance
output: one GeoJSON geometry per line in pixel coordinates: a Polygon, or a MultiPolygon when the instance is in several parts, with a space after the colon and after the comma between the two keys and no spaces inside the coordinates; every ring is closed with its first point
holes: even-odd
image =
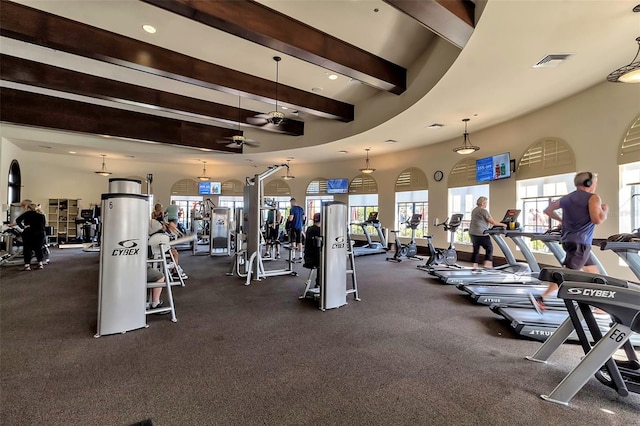
{"type": "MultiPolygon", "coordinates": [[[[163,49],[129,37],[0,1],[0,35],[185,83],[275,104],[274,82],[163,49]]],[[[353,121],[354,107],[278,85],[278,105],[323,118],[353,121]]]]}

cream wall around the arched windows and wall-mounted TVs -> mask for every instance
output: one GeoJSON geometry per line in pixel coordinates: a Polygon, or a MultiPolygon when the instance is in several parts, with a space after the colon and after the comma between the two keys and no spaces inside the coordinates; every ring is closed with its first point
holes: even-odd
{"type": "MultiPolygon", "coordinates": [[[[572,147],[579,170],[590,170],[599,174],[598,193],[611,206],[609,219],[596,229],[597,237],[606,237],[618,232],[618,167],[617,151],[622,138],[633,120],[640,114],[640,84],[613,84],[603,82],[556,104],[546,106],[523,117],[508,121],[483,131],[475,132],[473,121],[469,132],[474,145],[480,146],[478,156],[489,156],[511,152],[518,160],[526,149],[543,137],[558,137],[572,147]]],[[[1,129],[0,129],[1,130],[1,129]]],[[[462,141],[461,135],[455,140],[397,152],[385,156],[370,157],[377,169],[373,177],[378,182],[380,217],[383,225],[392,226],[394,206],[394,185],[398,174],[407,167],[421,168],[429,178],[429,213],[431,217],[447,216],[447,185],[432,179],[436,170],[448,175],[453,166],[462,158],[451,150],[462,141]]],[[[402,135],[398,135],[402,140],[402,135]]],[[[20,162],[23,177],[23,198],[28,197],[40,203],[48,198],[80,198],[81,208],[100,201],[100,194],[106,192],[108,178],[92,173],[100,169],[95,158],[76,158],[72,155],[48,155],[24,152],[11,142],[2,139],[0,145],[0,200],[6,203],[7,175],[12,159],[20,162]]],[[[170,161],[168,159],[168,161],[170,161]]],[[[296,179],[288,181],[292,195],[304,199],[305,189],[316,177],[348,177],[357,175],[364,164],[362,159],[340,161],[331,164],[312,163],[291,165],[291,174],[296,179]]],[[[107,159],[107,168],[114,172],[111,177],[154,176],[155,199],[168,204],[170,189],[180,179],[194,179],[201,172],[199,166],[145,163],[141,161],[115,161],[107,159]]],[[[214,180],[240,179],[253,176],[264,170],[252,166],[207,168],[214,180]]],[[[276,175],[276,177],[279,174],[276,175]]],[[[491,183],[491,210],[495,216],[513,208],[516,198],[516,179],[506,179],[491,183]]],[[[4,213],[3,213],[4,214],[4,213]]],[[[435,245],[446,246],[444,232],[435,233],[435,245]]],[[[426,245],[426,244],[424,244],[426,245]]],[[[465,247],[458,247],[465,250],[465,247]]],[[[599,253],[600,254],[600,253],[599,253]]],[[[602,253],[600,258],[612,275],[632,279],[627,268],[619,267],[615,255],[602,253]]],[[[540,259],[553,264],[553,260],[540,259]]]]}

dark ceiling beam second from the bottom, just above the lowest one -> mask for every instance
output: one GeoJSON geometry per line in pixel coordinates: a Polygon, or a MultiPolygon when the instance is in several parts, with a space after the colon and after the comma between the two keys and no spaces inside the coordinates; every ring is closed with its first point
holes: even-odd
{"type": "MultiPolygon", "coordinates": [[[[150,114],[160,108],[178,114],[213,118],[236,126],[238,122],[249,126],[246,124],[247,118],[260,114],[256,111],[239,110],[237,107],[96,77],[15,56],[0,54],[0,63],[2,80],[116,102],[125,101],[149,108],[150,114]]],[[[261,128],[260,126],[251,127],[261,128]]],[[[287,119],[277,127],[270,126],[269,129],[263,130],[273,131],[271,129],[278,129],[278,133],[301,136],[304,134],[304,122],[287,119]]]]}

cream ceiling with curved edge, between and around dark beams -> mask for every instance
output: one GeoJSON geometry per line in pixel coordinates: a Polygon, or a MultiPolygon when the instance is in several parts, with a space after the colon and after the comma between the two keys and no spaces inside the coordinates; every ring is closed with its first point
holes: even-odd
{"type": "MultiPolygon", "coordinates": [[[[477,2],[477,9],[485,7],[462,51],[378,0],[260,2],[407,68],[407,91],[400,96],[380,92],[344,76],[331,81],[326,76],[327,70],[320,67],[137,0],[20,0],[18,3],[270,80],[275,78],[272,57],[282,56],[279,68],[282,84],[305,91],[314,89],[323,96],[352,103],[356,118],[352,123],[339,123],[284,111],[305,121],[305,136],[246,129],[245,135],[260,141],[261,145],[255,149],[245,147],[242,155],[9,124],[0,128],[2,136],[28,151],[65,155],[76,151],[76,155],[106,154],[107,158],[135,157],[140,161],[185,164],[198,160],[206,160],[208,164],[241,164],[247,160],[274,164],[287,158],[301,163],[324,162],[335,159],[341,150],[349,152],[347,157],[360,158],[368,147],[375,157],[458,138],[463,132],[461,120],[465,117],[471,118],[469,130],[473,133],[599,84],[611,71],[633,59],[637,49],[634,40],[640,35],[640,13],[632,12],[638,0],[490,0],[486,6],[477,2]],[[143,32],[143,24],[154,25],[158,32],[154,35],[143,32]],[[532,68],[547,54],[561,53],[572,56],[559,67],[532,68]],[[444,127],[426,128],[433,123],[444,124],[444,127]],[[388,139],[397,143],[384,143],[388,139]]],[[[0,51],[194,98],[238,105],[238,98],[229,94],[8,38],[0,38],[0,51]]],[[[4,81],[1,84],[89,100],[4,81]]],[[[149,113],[139,106],[90,101],[149,113]]],[[[272,105],[245,99],[242,107],[265,113],[273,109],[272,105]]],[[[153,113],[175,117],[172,113],[153,113]]]]}

